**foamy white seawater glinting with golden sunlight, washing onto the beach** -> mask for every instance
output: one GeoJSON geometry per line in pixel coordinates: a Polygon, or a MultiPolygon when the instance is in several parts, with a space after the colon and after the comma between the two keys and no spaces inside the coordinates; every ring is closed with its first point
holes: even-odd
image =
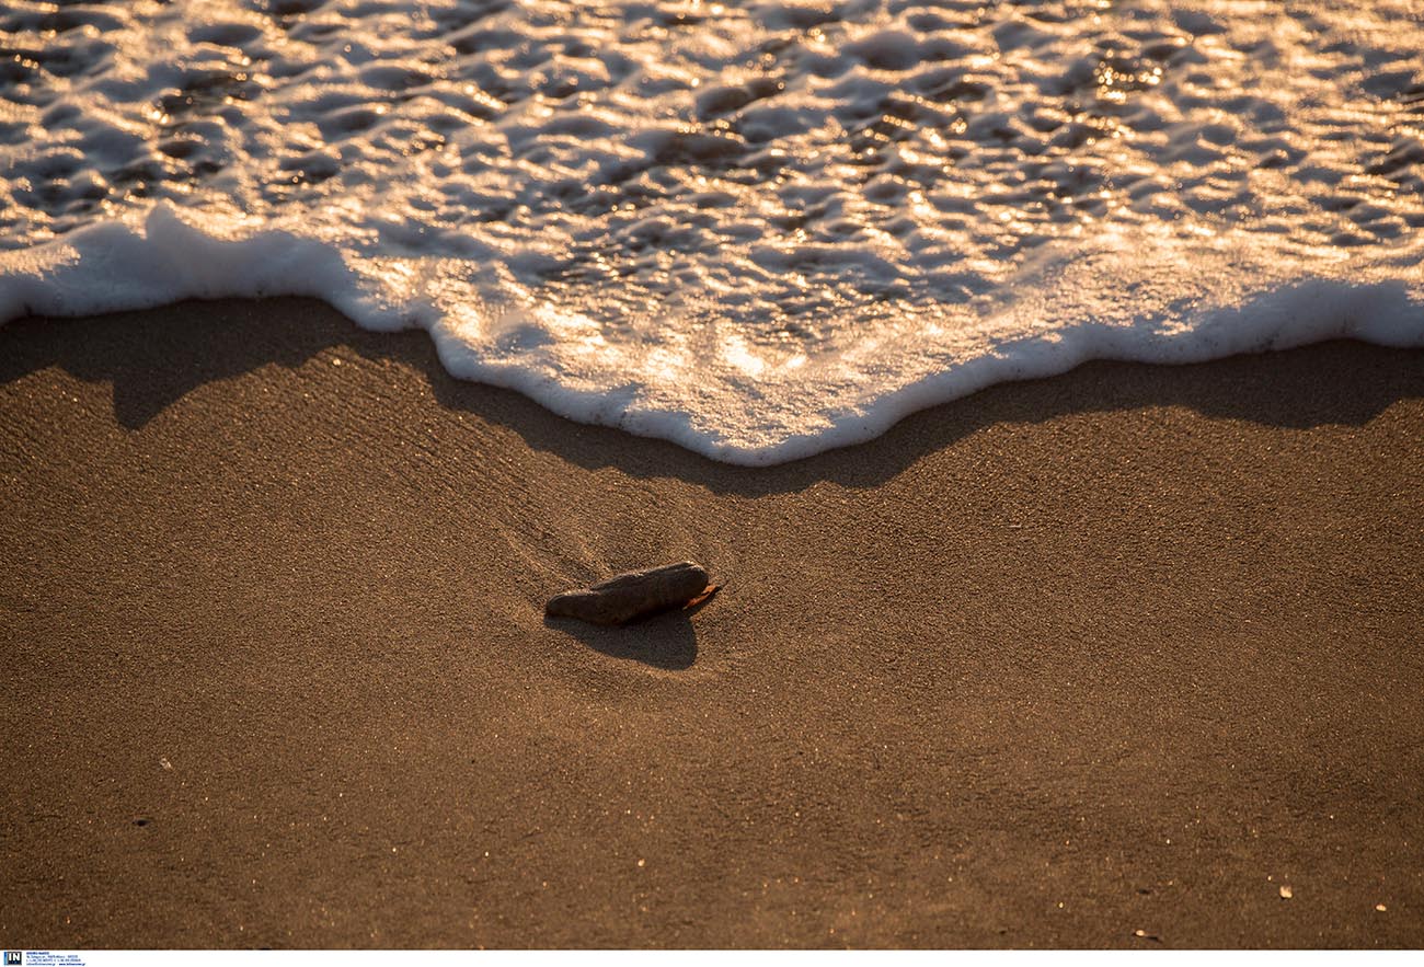
{"type": "Polygon", "coordinates": [[[0,319],[315,295],[738,463],[1420,346],[1421,50],[1414,0],[13,1],[0,319]]]}

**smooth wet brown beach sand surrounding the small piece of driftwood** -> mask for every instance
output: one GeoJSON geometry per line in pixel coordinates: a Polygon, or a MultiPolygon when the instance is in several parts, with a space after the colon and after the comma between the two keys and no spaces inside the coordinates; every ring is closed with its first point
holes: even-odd
{"type": "Polygon", "coordinates": [[[1421,474],[1353,343],[752,471],[310,302],[13,323],[0,940],[1418,947],[1421,474]]]}

